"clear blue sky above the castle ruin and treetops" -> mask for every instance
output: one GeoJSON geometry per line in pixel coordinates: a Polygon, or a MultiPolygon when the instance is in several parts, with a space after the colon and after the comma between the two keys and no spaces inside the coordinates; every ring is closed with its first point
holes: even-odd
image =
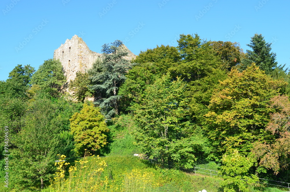
{"type": "Polygon", "coordinates": [[[290,2],[282,0],[2,0],[0,80],[18,64],[38,69],[74,35],[90,50],[122,40],[136,55],[156,45],[177,46],[180,34],[240,43],[262,34],[278,64],[290,64],[290,2]]]}

